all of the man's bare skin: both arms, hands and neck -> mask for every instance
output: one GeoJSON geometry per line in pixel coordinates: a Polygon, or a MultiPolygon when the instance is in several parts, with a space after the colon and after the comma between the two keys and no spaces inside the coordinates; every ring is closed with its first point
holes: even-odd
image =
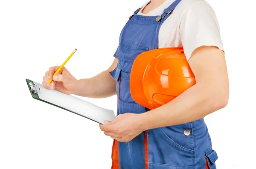
{"type": "MultiPolygon", "coordinates": [[[[143,13],[157,8],[163,0],[151,0],[143,13]]],[[[116,81],[109,72],[114,70],[118,59],[114,59],[108,70],[90,79],[76,79],[63,68],[61,73],[52,77],[59,66],[50,68],[43,78],[47,89],[56,89],[67,94],[90,98],[105,98],[116,94],[116,81]],[[86,87],[85,87],[86,86],[86,87]]],[[[169,103],[150,110],[147,113],[125,113],[118,115],[113,121],[99,124],[105,135],[121,142],[131,141],[141,132],[157,127],[184,124],[203,118],[221,108],[229,99],[229,81],[224,51],[215,46],[201,46],[192,52],[189,59],[196,84],[177,96],[169,103]]]]}

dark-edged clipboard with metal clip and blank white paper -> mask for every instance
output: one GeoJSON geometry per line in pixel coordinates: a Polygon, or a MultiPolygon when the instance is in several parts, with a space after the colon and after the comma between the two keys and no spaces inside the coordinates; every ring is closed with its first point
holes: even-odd
{"type": "Polygon", "coordinates": [[[99,107],[83,99],[67,95],[58,90],[46,89],[42,84],[26,79],[32,98],[51,104],[84,118],[104,124],[104,120],[112,121],[116,118],[113,110],[99,107]]]}

